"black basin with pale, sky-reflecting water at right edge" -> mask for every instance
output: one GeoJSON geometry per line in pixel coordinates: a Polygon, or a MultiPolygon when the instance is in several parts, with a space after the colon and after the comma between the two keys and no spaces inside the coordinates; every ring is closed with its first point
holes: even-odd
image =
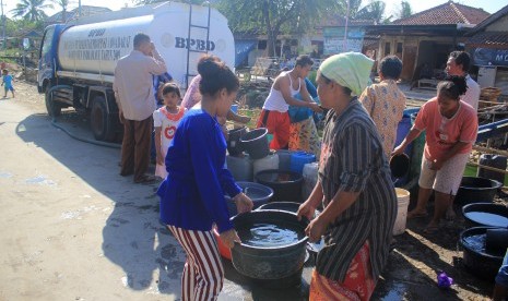
{"type": "Polygon", "coordinates": [[[474,203],[462,207],[471,226],[508,228],[508,207],[492,203],[474,203]]]}

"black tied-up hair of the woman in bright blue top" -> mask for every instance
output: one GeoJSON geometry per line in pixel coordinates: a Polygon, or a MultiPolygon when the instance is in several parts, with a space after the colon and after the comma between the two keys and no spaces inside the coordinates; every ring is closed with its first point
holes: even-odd
{"type": "Polygon", "coordinates": [[[199,92],[202,95],[215,95],[220,89],[226,88],[228,93],[238,91],[240,82],[235,73],[220,58],[206,55],[198,62],[198,72],[201,75],[199,92]]]}

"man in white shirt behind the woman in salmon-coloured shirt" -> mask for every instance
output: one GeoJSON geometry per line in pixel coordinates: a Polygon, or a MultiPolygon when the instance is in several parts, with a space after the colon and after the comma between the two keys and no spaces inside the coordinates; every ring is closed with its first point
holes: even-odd
{"type": "Polygon", "coordinates": [[[460,100],[471,105],[475,110],[479,109],[480,85],[468,74],[471,59],[468,52],[453,51],[448,57],[446,72],[448,75],[464,76],[468,84],[468,92],[460,97],[460,100]]]}

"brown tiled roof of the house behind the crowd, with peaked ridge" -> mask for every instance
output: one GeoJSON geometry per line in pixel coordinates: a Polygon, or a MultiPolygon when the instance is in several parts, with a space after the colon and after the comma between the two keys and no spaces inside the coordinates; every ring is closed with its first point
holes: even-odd
{"type": "MultiPolygon", "coordinates": [[[[493,0],[489,0],[493,1],[493,0]]],[[[479,24],[491,14],[482,9],[448,1],[441,5],[393,21],[397,25],[479,24]]]]}

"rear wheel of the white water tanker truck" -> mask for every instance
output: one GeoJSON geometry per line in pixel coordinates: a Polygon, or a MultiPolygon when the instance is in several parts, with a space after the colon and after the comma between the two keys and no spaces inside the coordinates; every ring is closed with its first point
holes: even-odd
{"type": "Polygon", "coordinates": [[[95,140],[114,141],[116,137],[113,116],[107,112],[106,100],[103,96],[96,96],[90,113],[90,122],[95,140]]]}

